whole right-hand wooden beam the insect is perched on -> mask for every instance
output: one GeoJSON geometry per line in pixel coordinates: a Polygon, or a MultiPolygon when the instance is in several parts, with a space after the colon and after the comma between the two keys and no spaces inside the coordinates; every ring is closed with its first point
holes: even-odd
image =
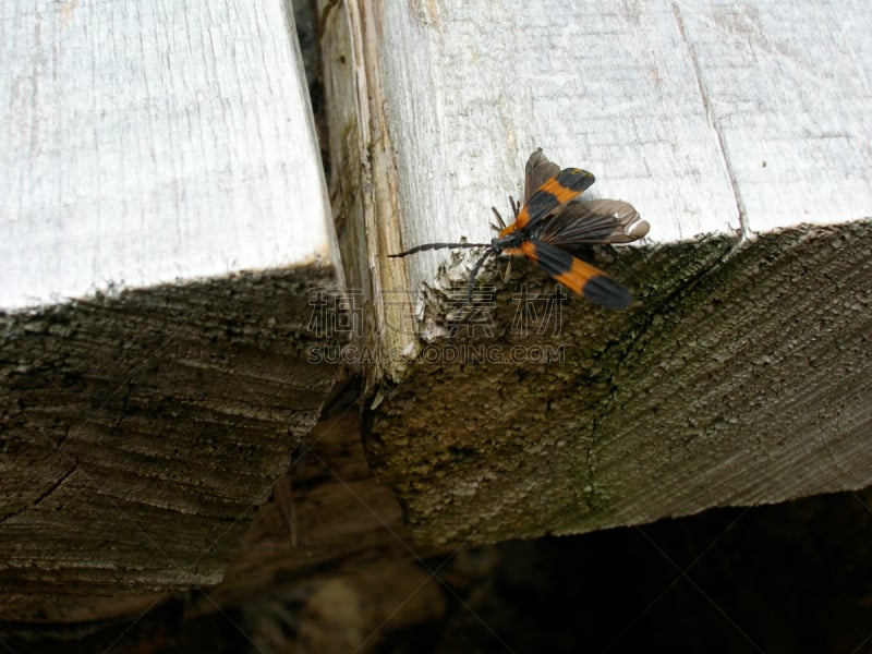
{"type": "Polygon", "coordinates": [[[331,133],[370,182],[342,195],[379,352],[365,438],[417,538],[872,483],[859,3],[326,4],[327,66],[350,80],[328,86],[331,133]],[[489,240],[540,146],[651,222],[642,247],[592,253],[629,310],[562,299],[532,265],[504,283],[494,263],[463,319],[473,255],[387,258],[489,240]],[[559,312],[536,313],[548,298],[559,312]]]}

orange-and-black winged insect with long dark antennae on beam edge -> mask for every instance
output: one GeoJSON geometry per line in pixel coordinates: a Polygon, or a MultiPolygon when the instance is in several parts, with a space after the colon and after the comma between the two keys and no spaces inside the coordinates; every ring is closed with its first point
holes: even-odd
{"type": "Polygon", "coordinates": [[[542,148],[530,155],[525,172],[523,206],[509,197],[514,214],[514,222],[509,226],[493,208],[499,234],[489,243],[425,243],[389,256],[425,250],[486,249],[470,274],[467,288],[467,303],[470,303],[475,278],[489,256],[523,255],[600,306],[625,308],[632,301],[630,291],[576,254],[594,243],[620,244],[641,239],[647,234],[649,223],[632,205],[619,199],[579,202],[578,196],[594,183],[594,175],[581,168],[560,170],[542,154],[542,148]]]}

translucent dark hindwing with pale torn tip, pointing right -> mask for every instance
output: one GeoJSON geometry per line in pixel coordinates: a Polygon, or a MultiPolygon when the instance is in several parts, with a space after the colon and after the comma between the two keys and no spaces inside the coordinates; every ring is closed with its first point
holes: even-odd
{"type": "Polygon", "coordinates": [[[578,247],[590,243],[631,243],[649,231],[639,211],[620,199],[573,202],[543,223],[535,234],[558,247],[578,247]]]}

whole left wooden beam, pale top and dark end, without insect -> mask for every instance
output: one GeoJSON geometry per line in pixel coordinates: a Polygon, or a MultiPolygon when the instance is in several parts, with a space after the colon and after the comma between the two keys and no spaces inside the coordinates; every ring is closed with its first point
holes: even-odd
{"type": "Polygon", "coordinates": [[[0,8],[3,619],[219,582],[317,421],[341,271],[288,11],[0,8]]]}

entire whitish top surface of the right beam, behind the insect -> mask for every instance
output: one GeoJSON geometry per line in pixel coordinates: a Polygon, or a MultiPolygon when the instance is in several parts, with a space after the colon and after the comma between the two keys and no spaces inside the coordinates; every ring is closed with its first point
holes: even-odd
{"type": "MultiPolygon", "coordinates": [[[[872,17],[860,2],[422,0],[384,12],[384,83],[408,89],[386,94],[405,245],[489,238],[488,207],[520,193],[536,146],[593,171],[591,196],[637,205],[650,243],[872,214],[872,17]]],[[[444,259],[421,255],[412,286],[444,259]]]]}

